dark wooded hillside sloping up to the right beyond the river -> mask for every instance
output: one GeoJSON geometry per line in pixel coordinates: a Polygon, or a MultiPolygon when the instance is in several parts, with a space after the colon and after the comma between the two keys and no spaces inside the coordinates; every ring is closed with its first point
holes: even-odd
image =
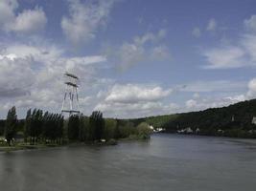
{"type": "Polygon", "coordinates": [[[154,128],[165,129],[168,133],[191,128],[194,134],[198,135],[256,138],[256,125],[252,123],[253,117],[256,117],[256,99],[239,102],[228,107],[137,118],[133,121],[145,121],[154,128]]]}

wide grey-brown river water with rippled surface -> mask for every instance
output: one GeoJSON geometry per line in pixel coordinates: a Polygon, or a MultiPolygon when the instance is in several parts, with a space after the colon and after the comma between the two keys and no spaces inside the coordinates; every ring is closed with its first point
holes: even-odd
{"type": "Polygon", "coordinates": [[[157,134],[116,146],[0,153],[4,191],[255,191],[256,140],[157,134]]]}

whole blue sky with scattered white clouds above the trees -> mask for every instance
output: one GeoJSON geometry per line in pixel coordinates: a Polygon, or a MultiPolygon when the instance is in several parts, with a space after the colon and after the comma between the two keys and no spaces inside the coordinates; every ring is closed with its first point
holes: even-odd
{"type": "Polygon", "coordinates": [[[65,72],[81,113],[148,117],[256,98],[255,0],[1,0],[0,118],[59,113],[65,72]]]}

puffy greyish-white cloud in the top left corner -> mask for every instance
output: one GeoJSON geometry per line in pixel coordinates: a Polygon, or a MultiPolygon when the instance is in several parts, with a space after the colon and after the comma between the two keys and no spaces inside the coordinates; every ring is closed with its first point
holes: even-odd
{"type": "Polygon", "coordinates": [[[23,10],[15,15],[17,8],[16,0],[2,0],[0,2],[1,30],[5,32],[34,33],[44,29],[47,18],[41,8],[23,10]]]}

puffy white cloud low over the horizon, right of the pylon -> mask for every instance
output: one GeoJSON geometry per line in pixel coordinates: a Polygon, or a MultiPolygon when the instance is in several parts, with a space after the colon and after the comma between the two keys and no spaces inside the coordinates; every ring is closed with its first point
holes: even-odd
{"type": "Polygon", "coordinates": [[[108,91],[100,92],[102,101],[95,106],[108,117],[145,117],[174,113],[179,107],[175,103],[164,103],[173,93],[160,86],[145,84],[113,85],[108,91]]]}

